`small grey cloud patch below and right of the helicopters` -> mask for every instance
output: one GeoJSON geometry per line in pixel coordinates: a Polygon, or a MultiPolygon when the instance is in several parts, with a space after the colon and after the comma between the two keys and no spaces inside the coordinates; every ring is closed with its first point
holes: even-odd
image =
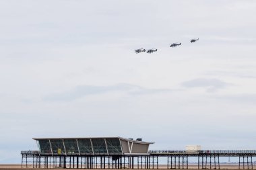
{"type": "Polygon", "coordinates": [[[219,79],[193,79],[183,82],[182,85],[188,88],[205,87],[208,92],[214,92],[218,89],[223,89],[228,86],[229,83],[225,83],[219,79]]]}

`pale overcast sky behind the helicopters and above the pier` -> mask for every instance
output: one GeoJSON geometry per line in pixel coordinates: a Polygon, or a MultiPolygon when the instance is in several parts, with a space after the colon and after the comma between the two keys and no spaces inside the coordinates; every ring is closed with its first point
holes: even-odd
{"type": "Polygon", "coordinates": [[[256,149],[255,9],[252,0],[0,1],[0,163],[20,163],[36,137],[256,149]]]}

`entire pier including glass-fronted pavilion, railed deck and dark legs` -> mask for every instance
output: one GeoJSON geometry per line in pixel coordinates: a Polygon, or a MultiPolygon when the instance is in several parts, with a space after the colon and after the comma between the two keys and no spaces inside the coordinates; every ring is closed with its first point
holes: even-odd
{"type": "Polygon", "coordinates": [[[149,151],[150,144],[111,138],[34,138],[38,151],[22,151],[22,167],[79,169],[189,169],[197,157],[198,169],[220,169],[220,157],[238,157],[238,169],[253,169],[254,150],[149,151]],[[164,163],[160,161],[164,159],[164,163]],[[159,164],[161,162],[161,165],[159,164]]]}

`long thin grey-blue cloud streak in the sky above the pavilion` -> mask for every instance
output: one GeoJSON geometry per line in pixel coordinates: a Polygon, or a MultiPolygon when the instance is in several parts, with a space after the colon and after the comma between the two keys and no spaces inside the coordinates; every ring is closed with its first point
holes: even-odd
{"type": "Polygon", "coordinates": [[[44,101],[71,101],[87,95],[96,95],[101,93],[107,93],[110,91],[125,91],[130,95],[143,95],[150,93],[160,93],[164,91],[172,91],[171,89],[146,89],[138,85],[131,84],[117,84],[108,86],[95,86],[95,85],[79,85],[70,91],[63,93],[55,93],[43,97],[44,101]]]}

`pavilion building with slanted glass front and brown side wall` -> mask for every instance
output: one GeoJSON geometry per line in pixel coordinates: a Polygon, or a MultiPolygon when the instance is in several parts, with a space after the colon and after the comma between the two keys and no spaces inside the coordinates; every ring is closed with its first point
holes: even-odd
{"type": "Polygon", "coordinates": [[[35,138],[41,155],[129,155],[148,153],[152,142],[113,138],[35,138]]]}

